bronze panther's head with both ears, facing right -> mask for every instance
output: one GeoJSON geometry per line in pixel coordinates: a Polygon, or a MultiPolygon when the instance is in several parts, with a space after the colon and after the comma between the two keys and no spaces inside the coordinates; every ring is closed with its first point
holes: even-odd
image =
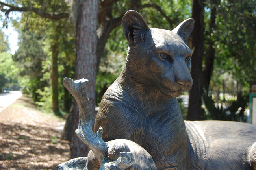
{"type": "Polygon", "coordinates": [[[174,30],[149,28],[137,11],[128,11],[122,28],[129,43],[126,76],[138,85],[149,85],[169,98],[191,88],[191,50],[186,45],[194,28],[189,18],[174,30]]]}

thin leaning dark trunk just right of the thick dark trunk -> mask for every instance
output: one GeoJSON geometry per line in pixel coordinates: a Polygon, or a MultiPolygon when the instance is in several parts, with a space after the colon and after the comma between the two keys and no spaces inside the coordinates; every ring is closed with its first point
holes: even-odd
{"type": "MultiPolygon", "coordinates": [[[[209,34],[213,33],[213,30],[216,30],[216,7],[220,4],[220,0],[213,1],[211,9],[211,18],[209,24],[209,34]]],[[[204,72],[203,72],[203,87],[208,92],[209,85],[211,80],[211,75],[213,72],[213,64],[215,59],[215,49],[213,48],[214,41],[213,39],[208,40],[208,48],[206,50],[205,63],[204,63],[204,72]]]]}

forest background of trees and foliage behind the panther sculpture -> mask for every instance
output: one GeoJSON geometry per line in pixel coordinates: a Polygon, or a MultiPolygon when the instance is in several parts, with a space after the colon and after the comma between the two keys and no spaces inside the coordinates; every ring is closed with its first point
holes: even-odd
{"type": "Polygon", "coordinates": [[[195,19],[188,41],[194,83],[185,92],[188,109],[180,104],[184,119],[246,121],[256,83],[255,0],[1,0],[0,92],[21,89],[38,108],[69,114],[63,137],[71,141],[71,157],[83,156],[88,148],[74,135],[78,108],[61,81],[89,79],[92,107],[100,104],[125,63],[121,19],[130,9],[150,28],[172,30],[195,19]],[[8,23],[19,33],[13,55],[2,31],[8,23]]]}

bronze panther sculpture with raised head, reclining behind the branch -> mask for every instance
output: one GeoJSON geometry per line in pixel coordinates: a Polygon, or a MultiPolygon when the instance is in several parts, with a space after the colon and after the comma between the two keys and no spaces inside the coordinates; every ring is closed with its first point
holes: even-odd
{"type": "MultiPolygon", "coordinates": [[[[174,30],[149,28],[136,11],[122,19],[126,64],[100,103],[94,131],[105,141],[128,139],[147,150],[158,170],[256,170],[256,126],[184,121],[175,99],[187,91],[194,20],[174,30]]],[[[96,163],[93,153],[89,163],[96,163]]]]}

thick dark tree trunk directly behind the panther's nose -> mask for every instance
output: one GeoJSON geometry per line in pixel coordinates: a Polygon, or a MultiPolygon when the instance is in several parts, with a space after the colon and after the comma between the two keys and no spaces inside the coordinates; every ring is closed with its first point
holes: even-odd
{"type": "Polygon", "coordinates": [[[193,86],[189,91],[187,120],[201,120],[202,116],[202,59],[204,52],[204,5],[203,0],[193,0],[192,18],[195,28],[191,33],[191,76],[193,86]]]}

